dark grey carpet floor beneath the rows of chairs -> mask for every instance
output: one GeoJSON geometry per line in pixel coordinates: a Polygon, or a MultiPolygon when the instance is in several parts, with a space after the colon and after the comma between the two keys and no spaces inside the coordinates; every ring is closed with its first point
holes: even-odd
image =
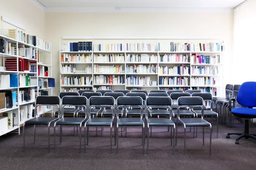
{"type": "MultiPolygon", "coordinates": [[[[100,132],[96,137],[96,128],[91,127],[87,152],[80,154],[79,136],[73,136],[73,127],[63,127],[61,145],[57,133],[57,153],[53,150],[51,127],[51,150],[48,153],[47,127],[37,127],[36,144],[33,144],[33,126],[26,126],[25,153],[23,153],[22,128],[20,135],[8,133],[0,136],[0,170],[255,170],[256,140],[241,139],[239,144],[235,144],[237,136],[226,139],[228,132],[243,132],[243,125],[237,122],[235,127],[231,128],[220,123],[218,138],[216,138],[216,122],[213,125],[212,155],[209,155],[209,128],[205,128],[204,146],[202,127],[198,127],[197,138],[193,138],[193,132],[186,133],[187,150],[184,155],[183,127],[179,125],[175,155],[172,155],[167,127],[154,127],[149,142],[149,153],[143,155],[141,127],[127,127],[126,138],[120,137],[119,132],[119,154],[116,154],[114,145],[113,153],[110,153],[108,127],[105,127],[103,137],[100,137],[100,132]]],[[[256,133],[256,128],[251,128],[250,132],[256,133]]],[[[82,144],[84,148],[84,138],[82,144]]]]}

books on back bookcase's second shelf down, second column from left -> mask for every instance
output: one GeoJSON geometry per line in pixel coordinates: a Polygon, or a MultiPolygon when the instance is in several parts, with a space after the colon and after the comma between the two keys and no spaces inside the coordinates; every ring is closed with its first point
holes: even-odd
{"type": "Polygon", "coordinates": [[[95,54],[94,62],[125,62],[125,56],[122,54],[95,54]]]}

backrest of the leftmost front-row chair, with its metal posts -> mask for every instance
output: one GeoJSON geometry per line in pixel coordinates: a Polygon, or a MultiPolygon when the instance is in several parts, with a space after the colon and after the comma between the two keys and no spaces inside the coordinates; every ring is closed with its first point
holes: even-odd
{"type": "Polygon", "coordinates": [[[51,105],[51,106],[57,106],[58,107],[58,117],[60,116],[60,104],[61,104],[61,98],[59,96],[37,96],[35,99],[35,114],[34,117],[37,117],[37,107],[39,105],[51,105]]]}

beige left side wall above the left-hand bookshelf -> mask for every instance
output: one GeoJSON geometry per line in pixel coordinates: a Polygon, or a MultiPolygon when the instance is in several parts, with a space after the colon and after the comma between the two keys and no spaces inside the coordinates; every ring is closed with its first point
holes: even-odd
{"type": "MultiPolygon", "coordinates": [[[[26,28],[26,34],[45,39],[45,12],[31,0],[0,0],[0,16],[26,28]]],[[[4,24],[4,28],[8,28],[4,24]]]]}

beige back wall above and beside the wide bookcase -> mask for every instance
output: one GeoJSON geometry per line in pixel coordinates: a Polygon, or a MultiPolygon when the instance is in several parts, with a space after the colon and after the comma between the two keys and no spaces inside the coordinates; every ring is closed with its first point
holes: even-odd
{"type": "Polygon", "coordinates": [[[224,40],[224,84],[233,51],[233,13],[47,13],[52,42],[53,77],[59,89],[59,43],[62,36],[219,36],[224,40]]]}

